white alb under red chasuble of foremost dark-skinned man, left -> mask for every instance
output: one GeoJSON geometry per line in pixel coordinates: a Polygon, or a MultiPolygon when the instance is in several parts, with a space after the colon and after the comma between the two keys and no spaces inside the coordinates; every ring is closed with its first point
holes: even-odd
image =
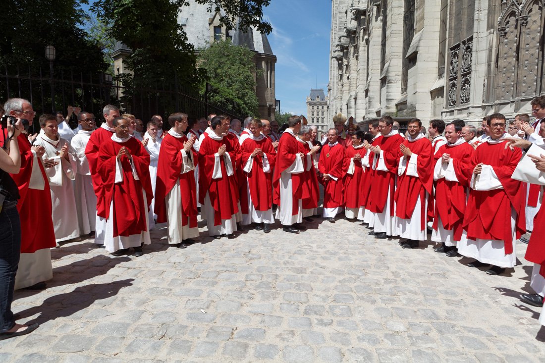
{"type": "MultiPolygon", "coordinates": [[[[129,136],[130,137],[130,136],[129,136]]],[[[114,142],[122,143],[129,140],[129,138],[120,139],[117,137],[116,134],[112,135],[112,140],[114,142]]],[[[136,172],[135,165],[132,162],[132,159],[130,159],[131,167],[132,167],[132,176],[135,178],[135,180],[140,180],[138,177],[138,173],[136,172]]],[[[123,167],[121,165],[121,161],[117,160],[116,162],[116,179],[114,183],[122,183],[124,178],[123,174],[123,167]]],[[[146,199],[146,191],[144,191],[144,188],[142,188],[142,196],[144,198],[144,203],[148,199],[146,199]]],[[[104,237],[104,246],[106,248],[106,251],[108,252],[116,252],[118,250],[122,249],[128,249],[130,247],[140,247],[142,243],[145,245],[149,245],[152,243],[152,240],[149,237],[149,225],[148,221],[144,218],[144,221],[146,221],[146,230],[142,231],[138,234],[131,234],[128,236],[122,236],[118,235],[117,237],[113,237],[113,231],[114,231],[114,222],[113,222],[113,203],[115,202],[115,197],[112,198],[112,202],[110,203],[110,214],[108,219],[106,220],[106,233],[104,237]]]]}

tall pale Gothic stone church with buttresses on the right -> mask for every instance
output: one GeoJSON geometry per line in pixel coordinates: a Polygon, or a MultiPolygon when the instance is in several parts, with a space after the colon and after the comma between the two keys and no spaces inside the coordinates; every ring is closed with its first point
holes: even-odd
{"type": "Polygon", "coordinates": [[[477,123],[545,94],[543,0],[332,0],[328,120],[477,123]]]}

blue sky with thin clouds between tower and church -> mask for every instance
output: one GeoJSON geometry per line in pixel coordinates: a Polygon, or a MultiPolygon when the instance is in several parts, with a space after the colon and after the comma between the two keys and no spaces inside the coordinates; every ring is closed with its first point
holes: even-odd
{"type": "Polygon", "coordinates": [[[311,88],[329,82],[331,0],[272,0],[264,9],[276,55],[276,99],[282,112],[306,115],[311,88]]]}

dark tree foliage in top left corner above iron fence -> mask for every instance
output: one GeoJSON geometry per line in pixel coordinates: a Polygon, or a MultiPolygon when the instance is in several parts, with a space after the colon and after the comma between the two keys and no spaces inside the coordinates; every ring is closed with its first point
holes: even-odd
{"type": "MultiPolygon", "coordinates": [[[[82,1],[84,3],[84,1],[82,1]]],[[[56,72],[99,72],[102,48],[80,27],[86,14],[76,0],[10,0],[0,11],[0,65],[49,69],[45,46],[56,48],[56,72]]],[[[22,71],[28,69],[23,68],[22,71]]],[[[47,74],[47,73],[46,73],[47,74]]]]}

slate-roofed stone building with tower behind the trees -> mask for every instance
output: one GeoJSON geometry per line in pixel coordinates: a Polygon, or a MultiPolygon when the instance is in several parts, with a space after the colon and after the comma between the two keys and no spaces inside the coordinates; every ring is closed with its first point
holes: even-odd
{"type": "Polygon", "coordinates": [[[251,28],[247,32],[238,27],[227,31],[220,22],[220,16],[225,14],[212,13],[208,4],[198,4],[188,1],[181,7],[178,22],[184,26],[187,41],[196,50],[208,47],[215,40],[231,39],[234,45],[245,46],[254,52],[256,63],[256,95],[259,101],[259,115],[268,120],[274,120],[276,110],[275,95],[275,64],[276,56],[272,53],[267,35],[251,28]]]}

